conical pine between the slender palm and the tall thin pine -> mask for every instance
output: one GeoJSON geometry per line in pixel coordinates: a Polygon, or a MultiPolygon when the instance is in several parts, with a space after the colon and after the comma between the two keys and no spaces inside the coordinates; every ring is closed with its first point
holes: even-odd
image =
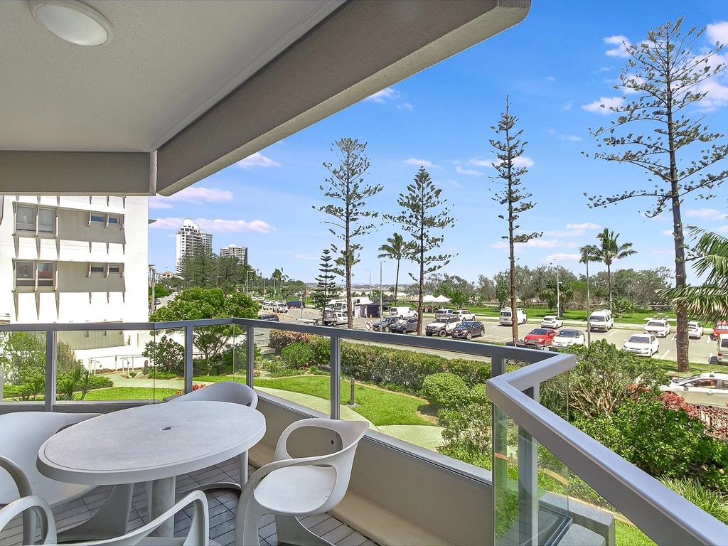
{"type": "Polygon", "coordinates": [[[432,178],[419,167],[414,183],[407,186],[407,193],[400,194],[397,205],[402,207],[398,215],[385,215],[388,221],[399,223],[402,229],[412,237],[416,246],[413,261],[419,266],[419,275],[410,274],[412,280],[419,284],[419,301],[417,303],[417,335],[422,336],[422,306],[424,298],[424,276],[442,269],[450,263],[450,254],[433,254],[445,240],[443,235],[434,235],[446,227],[452,227],[455,219],[450,216],[447,199],[440,199],[441,189],[435,187],[432,178]]]}

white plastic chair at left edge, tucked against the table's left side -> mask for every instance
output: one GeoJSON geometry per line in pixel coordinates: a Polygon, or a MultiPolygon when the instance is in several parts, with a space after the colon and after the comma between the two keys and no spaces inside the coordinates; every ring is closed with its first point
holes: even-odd
{"type": "MultiPolygon", "coordinates": [[[[0,415],[0,507],[28,495],[41,496],[58,507],[91,491],[82,486],[46,478],[36,468],[38,450],[59,430],[98,414],[56,414],[44,411],[18,411],[0,415]]],[[[130,497],[131,499],[131,497],[130,497]]],[[[23,516],[23,542],[33,543],[33,515],[23,516]]]]}

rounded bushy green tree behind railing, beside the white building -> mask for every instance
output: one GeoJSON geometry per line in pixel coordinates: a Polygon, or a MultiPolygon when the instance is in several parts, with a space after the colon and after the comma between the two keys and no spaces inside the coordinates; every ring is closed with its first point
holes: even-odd
{"type": "MultiPolygon", "coordinates": [[[[153,323],[165,323],[177,320],[201,320],[213,318],[257,318],[258,303],[243,293],[232,293],[228,296],[219,288],[187,288],[170,301],[149,315],[153,323]]],[[[234,335],[240,334],[240,328],[234,325],[208,326],[193,328],[194,346],[210,358],[217,355],[234,335]]]]}

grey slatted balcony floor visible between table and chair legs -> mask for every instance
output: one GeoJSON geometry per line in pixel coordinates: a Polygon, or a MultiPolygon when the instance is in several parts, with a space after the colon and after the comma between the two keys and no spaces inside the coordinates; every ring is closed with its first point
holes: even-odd
{"type": "MultiPolygon", "coordinates": [[[[248,467],[248,474],[254,470],[253,467],[248,467]]],[[[181,490],[194,487],[199,483],[231,481],[236,480],[236,477],[237,459],[230,459],[215,467],[178,476],[177,488],[181,490]]],[[[60,507],[53,513],[58,530],[62,531],[76,526],[90,518],[106,501],[109,491],[111,491],[111,486],[99,487],[82,498],[60,507]]],[[[207,491],[207,505],[210,509],[210,539],[223,546],[233,545],[235,541],[235,511],[239,496],[239,493],[230,489],[207,491]]],[[[143,526],[147,521],[146,513],[146,489],[143,483],[138,483],[134,488],[127,529],[132,530],[143,526]]],[[[191,525],[191,515],[191,505],[178,513],[175,517],[175,536],[186,534],[186,530],[191,525]]],[[[301,522],[314,533],[335,545],[376,546],[374,542],[328,514],[310,515],[301,522]]],[[[20,545],[23,539],[22,523],[20,517],[9,523],[6,529],[0,533],[0,546],[20,545]]],[[[258,522],[258,535],[261,538],[261,546],[280,544],[275,534],[274,516],[267,515],[261,518],[261,521],[258,522]]]]}

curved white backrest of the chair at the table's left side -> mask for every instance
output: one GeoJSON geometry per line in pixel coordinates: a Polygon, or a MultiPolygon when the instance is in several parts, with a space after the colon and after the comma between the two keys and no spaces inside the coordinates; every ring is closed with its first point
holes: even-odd
{"type": "MultiPolygon", "coordinates": [[[[23,470],[35,494],[44,495],[44,485],[52,480],[36,468],[41,445],[59,430],[98,415],[46,411],[17,411],[0,415],[0,455],[23,470]]],[[[15,480],[7,472],[0,472],[0,502],[10,502],[17,496],[15,480]]]]}

